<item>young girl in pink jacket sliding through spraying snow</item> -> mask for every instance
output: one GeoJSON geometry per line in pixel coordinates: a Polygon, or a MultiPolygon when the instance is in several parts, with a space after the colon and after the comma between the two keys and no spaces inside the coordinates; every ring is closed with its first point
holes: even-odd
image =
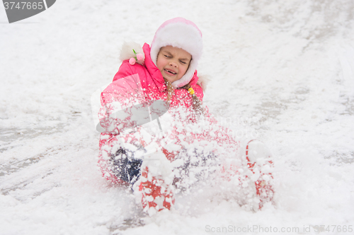
{"type": "Polygon", "coordinates": [[[101,94],[103,176],[131,186],[144,210],[171,209],[174,195],[208,181],[228,183],[240,205],[258,210],[273,198],[265,146],[251,140],[241,150],[227,128],[202,107],[206,80],[197,76],[202,33],[173,18],[156,31],[151,47],[123,45],[122,65],[101,94]]]}

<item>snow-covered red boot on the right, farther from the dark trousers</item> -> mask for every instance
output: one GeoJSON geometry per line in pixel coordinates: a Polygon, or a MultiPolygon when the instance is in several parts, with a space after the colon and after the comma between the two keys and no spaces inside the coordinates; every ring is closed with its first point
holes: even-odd
{"type": "Polygon", "coordinates": [[[273,162],[270,150],[261,140],[251,140],[246,145],[247,166],[252,171],[251,180],[256,186],[256,195],[260,200],[258,209],[273,200],[273,162]]]}

